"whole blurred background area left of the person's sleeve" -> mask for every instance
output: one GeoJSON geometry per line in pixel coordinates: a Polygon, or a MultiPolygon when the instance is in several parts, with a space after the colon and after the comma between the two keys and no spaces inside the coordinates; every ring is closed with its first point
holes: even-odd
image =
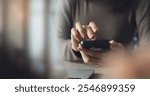
{"type": "Polygon", "coordinates": [[[56,4],[0,0],[0,78],[61,78],[52,75],[63,68],[54,32],[56,4]]]}

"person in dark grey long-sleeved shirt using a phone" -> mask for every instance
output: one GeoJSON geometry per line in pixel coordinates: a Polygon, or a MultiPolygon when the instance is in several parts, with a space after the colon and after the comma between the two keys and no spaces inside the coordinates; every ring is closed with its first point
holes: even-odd
{"type": "Polygon", "coordinates": [[[80,46],[82,40],[107,39],[112,46],[134,47],[148,44],[149,0],[59,0],[56,32],[65,60],[101,65],[103,55],[80,46]],[[117,43],[118,42],[118,43],[117,43]],[[99,55],[98,55],[99,54],[99,55]]]}

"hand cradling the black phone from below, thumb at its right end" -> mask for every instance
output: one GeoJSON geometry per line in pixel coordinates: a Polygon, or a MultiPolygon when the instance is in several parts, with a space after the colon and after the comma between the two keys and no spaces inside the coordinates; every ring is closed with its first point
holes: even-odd
{"type": "Polygon", "coordinates": [[[105,60],[105,57],[107,58],[107,56],[109,56],[108,54],[110,54],[111,52],[114,52],[114,53],[125,52],[123,45],[113,40],[110,41],[110,48],[111,48],[110,52],[92,51],[92,50],[83,48],[79,44],[78,50],[80,50],[84,63],[92,64],[96,66],[102,66],[103,61],[107,61],[107,59],[105,60]]]}

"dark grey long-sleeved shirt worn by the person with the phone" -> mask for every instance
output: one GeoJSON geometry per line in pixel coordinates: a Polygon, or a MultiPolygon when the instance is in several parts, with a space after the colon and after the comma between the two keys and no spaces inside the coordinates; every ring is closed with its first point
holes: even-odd
{"type": "Polygon", "coordinates": [[[97,39],[115,40],[129,46],[138,34],[140,45],[149,40],[150,0],[59,0],[56,32],[64,59],[78,61],[71,49],[71,28],[77,21],[87,25],[94,21],[100,27],[97,39]],[[110,2],[111,1],[111,2],[110,2]]]}

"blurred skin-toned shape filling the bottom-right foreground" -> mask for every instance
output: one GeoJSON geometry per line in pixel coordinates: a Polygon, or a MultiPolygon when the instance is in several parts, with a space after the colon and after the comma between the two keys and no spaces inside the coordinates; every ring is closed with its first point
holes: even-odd
{"type": "Polygon", "coordinates": [[[105,60],[103,78],[144,79],[150,78],[149,47],[138,48],[130,53],[111,53],[105,60]]]}

